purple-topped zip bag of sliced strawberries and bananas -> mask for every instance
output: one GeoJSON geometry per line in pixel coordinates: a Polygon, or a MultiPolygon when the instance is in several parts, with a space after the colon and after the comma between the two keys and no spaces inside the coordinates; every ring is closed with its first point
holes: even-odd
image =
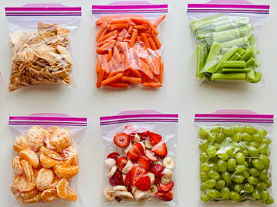
{"type": "Polygon", "coordinates": [[[102,204],[177,204],[178,115],[126,111],[100,117],[105,150],[102,204]]]}

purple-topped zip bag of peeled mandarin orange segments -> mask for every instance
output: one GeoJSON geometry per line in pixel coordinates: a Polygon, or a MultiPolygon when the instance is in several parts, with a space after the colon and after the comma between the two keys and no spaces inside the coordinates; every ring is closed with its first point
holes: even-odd
{"type": "Polygon", "coordinates": [[[51,203],[82,206],[78,195],[78,144],[87,118],[64,114],[10,117],[13,142],[12,184],[8,206],[51,203]]]}

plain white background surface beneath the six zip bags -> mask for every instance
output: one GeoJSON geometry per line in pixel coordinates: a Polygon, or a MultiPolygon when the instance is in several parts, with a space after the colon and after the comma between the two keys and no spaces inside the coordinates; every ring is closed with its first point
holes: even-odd
{"type": "MultiPolygon", "coordinates": [[[[79,193],[84,206],[101,206],[104,144],[100,136],[99,117],[116,115],[123,110],[158,110],[179,114],[177,144],[177,179],[179,206],[199,206],[199,150],[193,118],[195,113],[214,112],[219,109],[253,110],[262,114],[277,115],[276,32],[277,1],[253,3],[271,4],[267,24],[258,32],[260,61],[265,88],[250,83],[202,84],[195,88],[193,81],[193,43],[190,35],[186,8],[198,1],[151,1],[168,3],[166,28],[163,33],[165,46],[165,86],[160,89],[123,91],[97,90],[95,88],[95,44],[93,42],[92,4],[112,1],[51,1],[65,6],[82,6],[80,28],[73,37],[73,77],[77,88],[65,86],[31,86],[8,93],[10,77],[10,48],[4,7],[22,6],[24,3],[45,1],[0,1],[0,206],[6,206],[11,184],[12,137],[8,128],[9,116],[25,116],[34,112],[66,113],[74,117],[88,117],[87,132],[80,144],[79,193]]],[[[274,137],[277,125],[274,127],[274,137]]],[[[273,196],[277,199],[277,141],[272,141],[271,164],[273,196]]],[[[105,176],[105,175],[104,175],[105,176]]],[[[33,204],[30,206],[42,206],[33,204]]],[[[44,205],[43,205],[44,206],[44,205]]],[[[49,204],[48,206],[51,206],[49,204]]],[[[117,206],[120,206],[118,204],[117,206]]],[[[129,205],[129,206],[148,206],[129,205]]],[[[220,205],[219,205],[220,206],[220,205]]],[[[247,205],[244,205],[247,206],[247,205]]]]}

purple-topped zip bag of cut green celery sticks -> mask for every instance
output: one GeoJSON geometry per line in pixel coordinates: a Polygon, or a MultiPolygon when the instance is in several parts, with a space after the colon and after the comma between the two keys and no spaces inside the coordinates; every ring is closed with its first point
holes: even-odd
{"type": "Polygon", "coordinates": [[[247,81],[265,87],[256,32],[265,25],[270,6],[235,3],[188,4],[197,86],[203,81],[247,81]]]}

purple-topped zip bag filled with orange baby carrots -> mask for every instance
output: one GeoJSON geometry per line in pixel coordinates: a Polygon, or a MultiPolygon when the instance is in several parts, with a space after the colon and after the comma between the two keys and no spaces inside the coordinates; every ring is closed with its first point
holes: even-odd
{"type": "Polygon", "coordinates": [[[161,34],[167,12],[167,4],[145,1],[92,6],[96,26],[96,88],[163,86],[161,34]]]}

